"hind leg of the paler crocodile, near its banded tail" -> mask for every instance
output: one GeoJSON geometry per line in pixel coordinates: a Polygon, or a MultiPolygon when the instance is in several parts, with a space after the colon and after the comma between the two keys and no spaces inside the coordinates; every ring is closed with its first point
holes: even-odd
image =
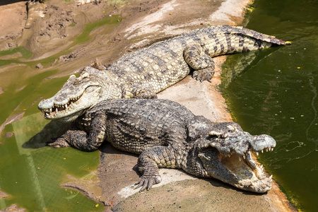
{"type": "Polygon", "coordinates": [[[214,75],[214,61],[204,52],[201,45],[191,45],[184,49],[184,60],[195,71],[192,74],[192,78],[196,78],[197,81],[209,81],[214,75]]]}

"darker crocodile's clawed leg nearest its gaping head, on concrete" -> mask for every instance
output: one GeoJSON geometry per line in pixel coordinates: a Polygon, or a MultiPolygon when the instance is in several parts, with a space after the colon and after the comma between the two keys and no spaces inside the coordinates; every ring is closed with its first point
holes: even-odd
{"type": "Polygon", "coordinates": [[[175,151],[171,146],[153,146],[139,155],[138,170],[141,177],[136,182],[135,189],[141,187],[139,192],[142,192],[144,189],[151,189],[153,184],[160,183],[158,167],[177,167],[175,151]]]}

